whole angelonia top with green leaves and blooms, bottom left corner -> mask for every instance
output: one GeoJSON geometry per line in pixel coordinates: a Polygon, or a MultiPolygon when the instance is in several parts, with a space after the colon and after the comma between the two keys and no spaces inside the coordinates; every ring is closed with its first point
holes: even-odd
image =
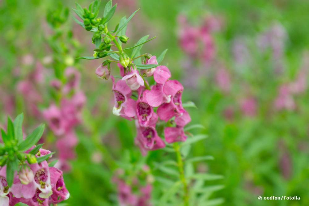
{"type": "Polygon", "coordinates": [[[36,145],[44,124],[24,139],[22,123],[23,113],[14,122],[8,118],[6,131],[1,128],[0,205],[56,205],[68,199],[62,171],[53,167],[57,160],[48,162],[54,153],[36,145]]]}

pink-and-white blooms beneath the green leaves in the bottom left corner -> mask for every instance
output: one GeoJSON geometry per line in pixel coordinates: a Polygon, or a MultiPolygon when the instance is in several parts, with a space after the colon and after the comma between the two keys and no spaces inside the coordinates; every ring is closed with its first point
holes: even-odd
{"type": "MultiPolygon", "coordinates": [[[[49,153],[49,150],[39,149],[36,157],[49,153]]],[[[33,206],[57,204],[70,196],[62,171],[49,167],[47,161],[21,166],[19,172],[15,172],[11,187],[6,182],[6,167],[0,169],[0,203],[3,206],[19,202],[33,206]]]]}

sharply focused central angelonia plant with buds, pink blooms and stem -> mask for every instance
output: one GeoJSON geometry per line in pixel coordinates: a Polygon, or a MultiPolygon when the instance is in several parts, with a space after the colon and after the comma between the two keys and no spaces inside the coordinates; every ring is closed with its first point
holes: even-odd
{"type": "MultiPolygon", "coordinates": [[[[100,1],[98,0],[92,2],[88,8],[82,8],[76,3],[77,9],[74,11],[80,19],[74,18],[74,20],[87,31],[93,32],[92,43],[95,44],[92,57],[78,57],[78,59],[93,60],[111,57],[112,59],[106,59],[98,66],[95,74],[101,79],[111,78],[112,80],[113,114],[135,121],[137,130],[135,143],[140,147],[143,155],[147,155],[150,150],[157,149],[164,149],[168,152],[172,150],[176,153],[177,162],[171,162],[178,171],[174,171],[174,168],[172,171],[165,169],[163,164],[156,169],[171,171],[170,174],[175,174],[178,180],[176,180],[174,187],[177,190],[173,190],[174,193],[167,192],[158,202],[162,204],[175,195],[175,197],[182,197],[174,198],[174,201],[178,201],[175,204],[189,205],[190,202],[192,205],[202,204],[209,196],[199,195],[194,191],[189,192],[189,187],[196,183],[198,183],[197,188],[203,187],[205,178],[209,178],[211,175],[208,174],[207,177],[204,174],[194,176],[192,162],[188,163],[187,168],[190,169],[185,174],[184,157],[188,154],[191,143],[202,140],[206,136],[201,135],[187,140],[188,135],[191,134],[185,132],[184,127],[191,121],[191,118],[184,107],[194,107],[195,105],[192,102],[182,103],[184,87],[179,81],[171,79],[171,72],[167,66],[160,65],[167,49],[159,57],[150,53],[141,54],[143,44],[155,38],[148,40],[149,35],[142,37],[133,47],[125,48],[124,45],[130,41],[126,36],[127,24],[138,10],[133,12],[128,19],[123,17],[113,30],[109,30],[108,22],[114,15],[117,5],[112,6],[112,1],[109,1],[105,6],[102,18],[97,17],[99,5],[100,1]],[[116,68],[119,69],[120,77],[116,76],[116,68]],[[154,83],[150,84],[149,82],[154,83]],[[163,136],[164,139],[161,138],[163,136]],[[202,178],[202,180],[196,181],[196,178],[202,178]],[[183,190],[178,190],[180,186],[183,190]],[[196,199],[194,199],[198,196],[201,196],[200,203],[196,203],[196,199]]],[[[193,125],[191,128],[203,127],[193,125]]],[[[208,158],[198,157],[194,161],[208,158]]],[[[220,179],[221,176],[211,176],[211,178],[220,179]]],[[[138,198],[132,194],[129,183],[123,182],[123,179],[118,179],[116,183],[120,193],[118,194],[120,203],[141,205],[136,202],[138,198]],[[124,200],[124,197],[131,197],[131,199],[124,200]]],[[[149,190],[150,187],[146,189],[147,194],[150,193],[149,190]]]]}

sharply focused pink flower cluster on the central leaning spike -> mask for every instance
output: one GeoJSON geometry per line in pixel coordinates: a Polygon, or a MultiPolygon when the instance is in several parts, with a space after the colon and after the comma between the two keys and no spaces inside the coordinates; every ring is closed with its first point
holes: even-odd
{"type": "MultiPolygon", "coordinates": [[[[158,65],[156,56],[149,59],[146,57],[145,63],[158,65]]],[[[167,143],[185,141],[187,136],[183,128],[191,118],[182,106],[181,96],[184,87],[177,80],[170,80],[169,69],[166,66],[157,66],[142,70],[140,74],[138,69],[133,67],[125,68],[121,64],[118,66],[122,79],[115,82],[111,76],[115,100],[113,114],[136,120],[135,142],[142,153],[165,147],[156,130],[159,119],[168,123],[168,127],[164,129],[167,143]],[[146,89],[145,85],[148,86],[148,83],[143,77],[150,76],[153,76],[156,84],[146,89]],[[136,100],[133,99],[135,94],[136,100]]]]}

